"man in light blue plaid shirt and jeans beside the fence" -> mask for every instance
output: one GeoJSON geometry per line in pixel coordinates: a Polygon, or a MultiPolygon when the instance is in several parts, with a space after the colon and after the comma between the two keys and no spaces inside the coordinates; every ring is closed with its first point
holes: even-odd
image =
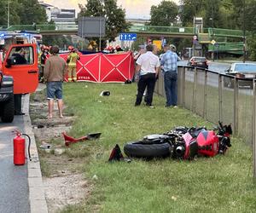
{"type": "Polygon", "coordinates": [[[160,61],[164,72],[164,82],[166,90],[166,107],[177,107],[177,61],[181,60],[175,53],[174,45],[166,44],[164,46],[166,52],[160,61]]]}

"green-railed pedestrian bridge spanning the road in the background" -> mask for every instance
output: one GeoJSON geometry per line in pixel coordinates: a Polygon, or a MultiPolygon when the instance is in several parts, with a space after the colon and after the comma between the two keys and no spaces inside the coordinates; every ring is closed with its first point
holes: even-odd
{"type": "MultiPolygon", "coordinates": [[[[0,27],[1,30],[1,27],[0,27]]],[[[6,31],[36,31],[43,36],[48,35],[77,35],[78,26],[59,26],[59,25],[14,25],[2,27],[6,31]]],[[[138,37],[181,37],[191,38],[195,35],[194,27],[183,26],[147,26],[147,25],[132,25],[128,32],[137,33],[138,37]]],[[[212,46],[212,37],[218,43],[219,52],[230,52],[232,54],[242,55],[243,33],[239,30],[221,29],[221,28],[204,28],[203,33],[198,33],[198,43],[207,44],[209,50],[216,51],[212,46]],[[237,42],[230,43],[230,39],[237,42]]]]}

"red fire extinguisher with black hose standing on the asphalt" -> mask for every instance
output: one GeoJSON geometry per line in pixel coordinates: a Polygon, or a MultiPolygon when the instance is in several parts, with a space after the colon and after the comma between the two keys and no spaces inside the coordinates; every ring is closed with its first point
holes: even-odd
{"type": "Polygon", "coordinates": [[[14,138],[14,164],[15,165],[24,165],[25,164],[25,150],[26,150],[26,141],[25,138],[23,138],[21,135],[25,135],[28,137],[28,157],[29,160],[31,160],[30,156],[30,144],[31,144],[31,139],[29,135],[26,135],[24,133],[20,133],[19,130],[15,130],[16,136],[14,138]]]}

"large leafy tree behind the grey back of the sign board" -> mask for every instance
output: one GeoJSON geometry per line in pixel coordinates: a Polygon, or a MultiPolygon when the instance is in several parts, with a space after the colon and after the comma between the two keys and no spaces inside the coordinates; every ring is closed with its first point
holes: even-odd
{"type": "Polygon", "coordinates": [[[119,32],[125,32],[129,27],[125,21],[125,9],[117,6],[117,0],[88,0],[85,6],[79,4],[79,8],[81,9],[79,17],[102,16],[106,18],[106,36],[102,43],[106,40],[114,41],[119,32]]]}

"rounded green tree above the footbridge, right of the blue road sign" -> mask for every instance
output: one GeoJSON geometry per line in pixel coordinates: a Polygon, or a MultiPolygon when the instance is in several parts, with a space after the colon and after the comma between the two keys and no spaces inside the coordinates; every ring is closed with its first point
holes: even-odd
{"type": "Polygon", "coordinates": [[[169,1],[162,1],[158,6],[150,9],[151,26],[172,26],[177,21],[177,4],[169,1]]]}

